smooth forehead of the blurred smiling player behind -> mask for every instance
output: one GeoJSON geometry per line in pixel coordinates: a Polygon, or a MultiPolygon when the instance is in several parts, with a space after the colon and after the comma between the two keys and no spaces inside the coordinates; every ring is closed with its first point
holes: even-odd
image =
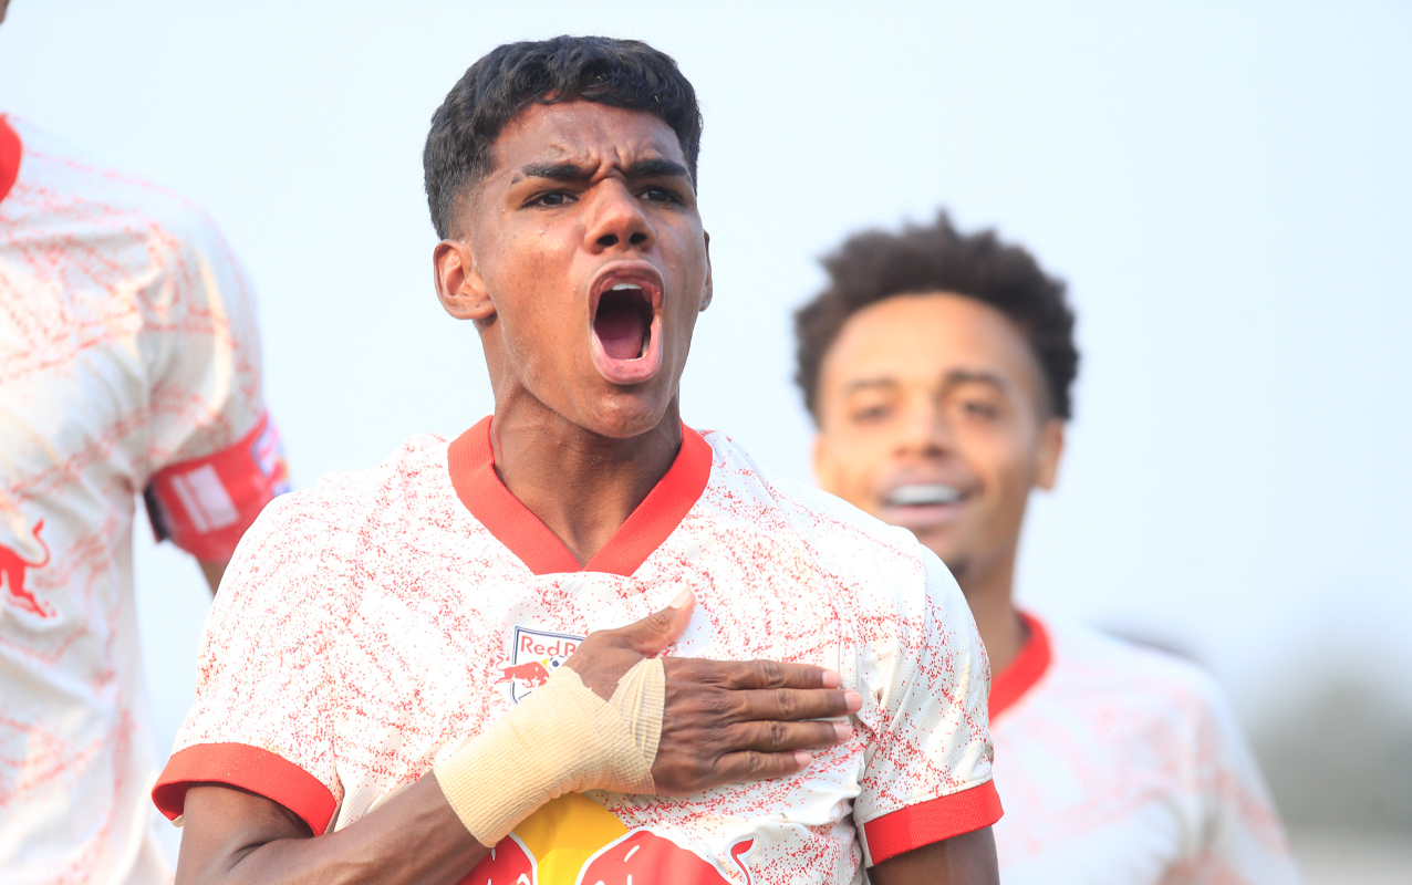
{"type": "Polygon", "coordinates": [[[895,295],[850,316],[825,356],[820,392],[840,395],[860,381],[932,387],[952,373],[997,375],[1036,402],[1043,390],[1028,342],[1004,313],[936,292],[895,295]]]}

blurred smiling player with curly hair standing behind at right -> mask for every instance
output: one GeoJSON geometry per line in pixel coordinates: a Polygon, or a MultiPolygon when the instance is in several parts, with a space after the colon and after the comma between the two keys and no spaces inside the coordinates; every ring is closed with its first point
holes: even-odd
{"type": "Polygon", "coordinates": [[[820,486],[935,550],[990,654],[1001,878],[1295,882],[1216,683],[1014,604],[1032,488],[1058,477],[1079,353],[1065,287],[946,217],[850,237],[796,316],[820,486]]]}

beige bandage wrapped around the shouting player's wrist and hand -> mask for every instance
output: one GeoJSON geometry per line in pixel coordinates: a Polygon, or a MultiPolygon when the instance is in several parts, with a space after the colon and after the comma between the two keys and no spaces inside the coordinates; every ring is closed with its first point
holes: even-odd
{"type": "Polygon", "coordinates": [[[561,666],[432,771],[470,834],[494,847],[563,793],[651,793],[665,702],[666,678],[658,659],[640,661],[624,673],[610,700],[561,666]]]}

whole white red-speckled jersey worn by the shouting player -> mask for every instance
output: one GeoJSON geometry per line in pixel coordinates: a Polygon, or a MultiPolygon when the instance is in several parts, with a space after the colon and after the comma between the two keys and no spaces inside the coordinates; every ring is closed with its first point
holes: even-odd
{"type": "Polygon", "coordinates": [[[346,827],[582,637],[683,587],[698,608],[668,654],[832,668],[864,699],[854,740],[799,776],[689,799],[563,796],[465,882],[861,882],[864,850],[877,862],[1000,816],[987,659],[956,583],[909,532],[683,428],[671,470],[580,567],[501,484],[490,419],[265,510],[212,608],[154,799],[175,819],[188,783],[216,781],[316,834],[346,827]]]}

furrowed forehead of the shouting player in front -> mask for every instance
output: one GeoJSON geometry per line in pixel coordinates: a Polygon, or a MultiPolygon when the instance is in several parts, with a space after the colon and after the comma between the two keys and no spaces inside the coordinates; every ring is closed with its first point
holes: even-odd
{"type": "Polygon", "coordinates": [[[594,102],[531,104],[501,130],[490,178],[511,181],[525,165],[569,162],[607,172],[644,159],[686,165],[682,145],[661,117],[594,102]]]}

